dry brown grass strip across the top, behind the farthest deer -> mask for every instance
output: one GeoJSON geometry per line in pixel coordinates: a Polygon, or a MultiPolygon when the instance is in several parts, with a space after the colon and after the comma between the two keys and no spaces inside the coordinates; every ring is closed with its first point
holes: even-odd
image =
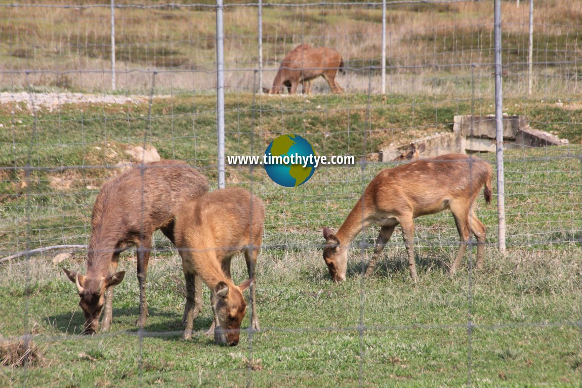
{"type": "MultiPolygon", "coordinates": [[[[527,48],[527,2],[522,2],[519,9],[513,1],[503,2],[502,15],[503,31],[509,35],[511,49],[504,62],[520,62],[527,48]]],[[[3,59],[0,70],[21,71],[0,74],[0,84],[108,90],[111,85],[109,18],[107,7],[0,8],[0,19],[8,21],[0,24],[3,59]],[[48,73],[26,74],[22,72],[25,69],[48,70],[48,73]],[[81,73],[88,70],[91,73],[81,73]]],[[[250,89],[258,57],[256,8],[226,8],[224,19],[226,69],[237,69],[226,74],[227,85],[233,89],[250,89]]],[[[580,2],[536,3],[534,44],[550,52],[550,58],[539,54],[544,56],[540,60],[563,60],[570,58],[566,58],[568,55],[574,58],[580,49],[570,46],[570,41],[559,40],[565,35],[575,37],[580,20],[580,2]],[[557,51],[548,44],[563,47],[557,51]]],[[[446,74],[463,71],[446,67],[452,63],[491,62],[492,29],[490,2],[389,6],[388,65],[397,66],[391,67],[391,76],[395,73],[418,76],[419,72],[426,75],[427,70],[446,74]],[[422,69],[411,69],[412,66],[422,69]]],[[[336,48],[346,65],[354,69],[378,66],[381,57],[380,9],[359,5],[268,7],[263,10],[263,33],[267,70],[276,69],[282,57],[299,42],[336,48]]],[[[211,90],[215,86],[214,35],[215,13],[211,8],[116,9],[119,87],[147,90],[151,87],[152,70],[161,70],[156,79],[158,87],[211,90]],[[169,71],[173,72],[166,73],[169,71]]],[[[265,72],[263,86],[269,86],[273,76],[274,73],[265,72]]],[[[366,74],[354,77],[361,80],[343,84],[365,89],[366,74]]],[[[402,88],[410,90],[410,85],[404,84],[402,88]]]]}

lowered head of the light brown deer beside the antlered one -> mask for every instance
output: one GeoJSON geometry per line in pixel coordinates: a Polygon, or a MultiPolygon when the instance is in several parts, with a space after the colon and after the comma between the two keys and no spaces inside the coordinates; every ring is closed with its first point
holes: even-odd
{"type": "Polygon", "coordinates": [[[240,323],[247,312],[243,291],[248,289],[253,279],[245,280],[239,286],[231,286],[218,282],[214,287],[214,314],[218,325],[214,329],[214,339],[217,343],[237,346],[240,338],[240,323]]]}

